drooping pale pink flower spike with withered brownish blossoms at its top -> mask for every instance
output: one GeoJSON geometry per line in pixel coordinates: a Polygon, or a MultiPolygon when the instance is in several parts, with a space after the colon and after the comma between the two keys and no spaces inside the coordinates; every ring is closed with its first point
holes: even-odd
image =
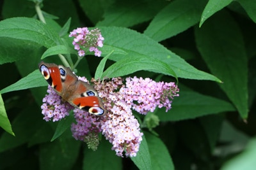
{"type": "Polygon", "coordinates": [[[112,150],[116,155],[122,157],[135,157],[140,148],[143,133],[140,132],[140,124],[132,115],[131,105],[125,103],[124,97],[118,91],[122,87],[121,78],[112,78],[111,81],[92,80],[95,90],[100,97],[106,99],[104,107],[109,113],[103,117],[101,122],[102,134],[112,143],[112,150]]]}

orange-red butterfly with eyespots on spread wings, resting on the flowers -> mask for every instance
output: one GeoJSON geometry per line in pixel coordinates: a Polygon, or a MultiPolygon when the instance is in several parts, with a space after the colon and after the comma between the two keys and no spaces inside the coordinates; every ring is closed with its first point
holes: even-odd
{"type": "Polygon", "coordinates": [[[43,61],[38,66],[47,83],[64,101],[93,115],[102,116],[107,113],[98,92],[92,85],[78,80],[69,67],[43,61]]]}

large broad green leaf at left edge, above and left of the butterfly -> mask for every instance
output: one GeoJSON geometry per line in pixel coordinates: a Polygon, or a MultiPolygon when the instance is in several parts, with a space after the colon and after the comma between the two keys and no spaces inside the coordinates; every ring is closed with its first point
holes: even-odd
{"type": "Polygon", "coordinates": [[[62,44],[49,25],[33,18],[8,18],[0,22],[0,64],[24,59],[38,48],[62,44]],[[15,49],[15,50],[13,50],[15,49]]]}

